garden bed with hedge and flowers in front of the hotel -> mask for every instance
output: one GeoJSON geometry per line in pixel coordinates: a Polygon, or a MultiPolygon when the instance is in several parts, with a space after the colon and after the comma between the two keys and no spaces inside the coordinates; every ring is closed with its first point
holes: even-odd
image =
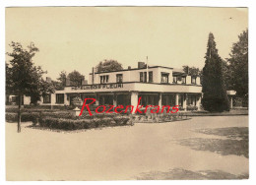
{"type": "MultiPolygon", "coordinates": [[[[96,106],[92,106],[92,109],[96,106]]],[[[82,130],[101,127],[132,126],[134,123],[162,123],[189,119],[184,113],[151,113],[151,109],[144,114],[129,113],[95,113],[91,116],[84,111],[81,116],[76,116],[71,108],[50,109],[45,106],[25,106],[22,108],[22,122],[32,122],[33,128],[47,128],[51,130],[82,130]]],[[[18,121],[18,108],[6,107],[6,121],[18,121]]]]}

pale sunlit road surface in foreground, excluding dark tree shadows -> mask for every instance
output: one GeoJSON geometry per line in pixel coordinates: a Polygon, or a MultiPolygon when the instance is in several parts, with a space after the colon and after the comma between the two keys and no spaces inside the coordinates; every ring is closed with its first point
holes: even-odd
{"type": "Polygon", "coordinates": [[[78,133],[57,133],[6,124],[7,180],[136,179],[150,171],[222,170],[248,173],[248,158],[196,151],[177,141],[224,139],[195,129],[248,127],[247,116],[193,117],[162,124],[138,123],[78,133]]]}

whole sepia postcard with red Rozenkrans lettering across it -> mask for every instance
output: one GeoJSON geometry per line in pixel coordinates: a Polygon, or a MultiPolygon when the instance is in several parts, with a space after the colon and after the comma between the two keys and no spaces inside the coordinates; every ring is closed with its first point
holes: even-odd
{"type": "Polygon", "coordinates": [[[6,180],[248,179],[248,9],[6,8],[6,180]]]}

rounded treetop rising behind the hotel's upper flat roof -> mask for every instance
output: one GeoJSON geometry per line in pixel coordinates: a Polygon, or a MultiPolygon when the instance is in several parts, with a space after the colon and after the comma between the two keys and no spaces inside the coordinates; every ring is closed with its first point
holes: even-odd
{"type": "Polygon", "coordinates": [[[118,71],[118,70],[122,70],[122,64],[118,63],[116,60],[104,60],[104,61],[100,61],[97,65],[96,65],[96,72],[110,72],[110,71],[118,71]]]}

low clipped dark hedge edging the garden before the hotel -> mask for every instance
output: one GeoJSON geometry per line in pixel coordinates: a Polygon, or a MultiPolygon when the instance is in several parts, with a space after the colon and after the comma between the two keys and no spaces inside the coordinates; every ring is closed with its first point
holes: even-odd
{"type": "MultiPolygon", "coordinates": [[[[18,113],[6,112],[6,121],[17,122],[18,113]]],[[[70,111],[56,112],[23,112],[21,115],[22,122],[32,121],[32,125],[39,123],[41,127],[62,130],[90,129],[107,126],[133,125],[133,119],[130,116],[116,113],[100,113],[90,116],[84,113],[82,116],[75,116],[70,111]]]]}

